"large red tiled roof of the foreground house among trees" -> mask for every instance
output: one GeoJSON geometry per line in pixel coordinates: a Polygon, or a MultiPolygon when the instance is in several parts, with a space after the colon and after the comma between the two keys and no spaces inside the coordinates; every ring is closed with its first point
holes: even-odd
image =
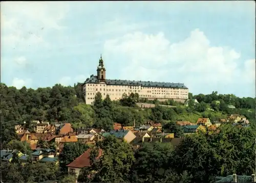
{"type": "MultiPolygon", "coordinates": [[[[90,152],[91,148],[87,149],[84,153],[82,153],[78,158],[76,158],[72,163],[68,164],[67,167],[74,167],[74,168],[83,168],[83,167],[90,167],[90,152]]],[[[99,158],[102,155],[102,149],[99,149],[99,158]]]]}

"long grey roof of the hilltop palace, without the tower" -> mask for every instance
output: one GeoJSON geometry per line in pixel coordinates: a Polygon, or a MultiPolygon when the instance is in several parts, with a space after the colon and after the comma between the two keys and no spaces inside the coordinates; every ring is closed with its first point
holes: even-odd
{"type": "MultiPolygon", "coordinates": [[[[84,84],[97,84],[98,79],[96,75],[91,75],[84,84]]],[[[106,85],[125,85],[125,86],[142,86],[142,87],[159,87],[159,88],[184,88],[187,87],[182,83],[164,83],[164,82],[145,82],[145,81],[130,81],[130,80],[106,80],[106,85]]]]}

